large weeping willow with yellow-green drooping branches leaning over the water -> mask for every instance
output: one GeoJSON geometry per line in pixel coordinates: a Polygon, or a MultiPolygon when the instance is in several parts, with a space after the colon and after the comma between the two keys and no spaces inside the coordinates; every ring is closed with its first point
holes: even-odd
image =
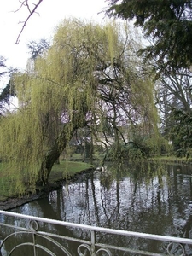
{"type": "Polygon", "coordinates": [[[26,73],[15,74],[19,108],[2,117],[0,132],[1,159],[17,177],[15,189],[23,192],[25,178],[34,186],[47,183],[78,129],[88,127],[105,145],[109,130],[118,145],[119,125],[145,119],[151,129],[153,89],[141,73],[140,46],[127,24],[63,20],[50,48],[26,73]]]}

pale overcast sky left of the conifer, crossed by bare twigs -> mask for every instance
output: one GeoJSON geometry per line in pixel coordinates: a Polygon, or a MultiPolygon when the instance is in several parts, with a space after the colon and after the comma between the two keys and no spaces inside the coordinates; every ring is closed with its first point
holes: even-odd
{"type": "MultiPolygon", "coordinates": [[[[21,2],[22,0],[20,0],[21,2]]],[[[38,3],[38,0],[28,0],[38,3]]],[[[99,14],[106,6],[105,0],[44,0],[38,7],[38,14],[32,15],[25,30],[20,36],[20,44],[15,44],[22,24],[28,15],[26,8],[20,8],[19,0],[4,0],[0,8],[0,55],[7,61],[7,66],[25,68],[27,60],[26,43],[31,40],[49,38],[55,26],[67,17],[77,17],[85,20],[104,19],[104,14],[99,14]]]]}

